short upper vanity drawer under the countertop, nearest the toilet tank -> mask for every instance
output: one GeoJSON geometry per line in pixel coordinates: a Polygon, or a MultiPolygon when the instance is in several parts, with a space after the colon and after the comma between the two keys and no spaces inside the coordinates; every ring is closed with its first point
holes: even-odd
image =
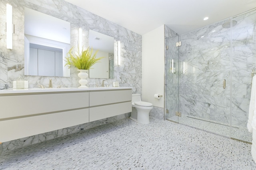
{"type": "Polygon", "coordinates": [[[90,107],[132,101],[132,90],[90,92],[90,107]]]}

